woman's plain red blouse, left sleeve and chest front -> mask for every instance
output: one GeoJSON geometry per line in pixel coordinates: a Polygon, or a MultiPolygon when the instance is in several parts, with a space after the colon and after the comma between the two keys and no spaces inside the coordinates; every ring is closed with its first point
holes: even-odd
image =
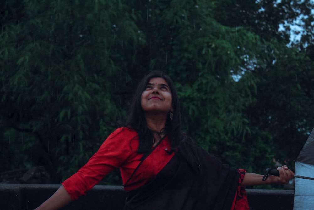
{"type": "MultiPolygon", "coordinates": [[[[111,133],[86,165],[62,182],[72,200],[85,195],[116,167],[120,168],[121,177],[125,184],[143,157],[143,154],[137,153],[138,145],[138,134],[134,130],[118,128],[111,133]]],[[[151,154],[155,154],[156,158],[151,158],[150,167],[145,168],[145,173],[137,172],[124,189],[126,191],[133,190],[150,182],[174,155],[174,153],[169,155],[165,152],[170,146],[170,139],[165,137],[151,154]],[[160,153],[161,150],[164,152],[160,153]]]]}

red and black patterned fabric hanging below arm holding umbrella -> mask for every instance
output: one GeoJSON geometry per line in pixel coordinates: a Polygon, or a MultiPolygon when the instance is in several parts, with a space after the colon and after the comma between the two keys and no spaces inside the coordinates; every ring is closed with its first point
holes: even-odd
{"type": "Polygon", "coordinates": [[[240,186],[241,183],[243,182],[246,170],[238,169],[238,173],[239,173],[239,186],[231,210],[248,210],[250,208],[246,197],[246,191],[244,187],[240,186]]]}

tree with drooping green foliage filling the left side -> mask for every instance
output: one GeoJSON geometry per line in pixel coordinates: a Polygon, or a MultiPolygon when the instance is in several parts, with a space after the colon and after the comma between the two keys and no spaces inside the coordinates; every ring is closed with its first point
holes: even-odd
{"type": "MultiPolygon", "coordinates": [[[[125,115],[115,92],[127,87],[124,69],[132,55],[122,61],[116,40],[136,34],[124,42],[133,48],[141,44],[138,29],[125,24],[121,35],[115,32],[112,23],[131,15],[115,1],[10,1],[2,8],[3,133],[29,134],[33,141],[25,156],[33,161],[28,164],[43,164],[59,182],[83,166],[125,115]],[[111,5],[116,10],[108,9],[111,5]]],[[[8,139],[3,141],[5,151],[8,139]]],[[[22,167],[11,165],[2,170],[22,167]]]]}

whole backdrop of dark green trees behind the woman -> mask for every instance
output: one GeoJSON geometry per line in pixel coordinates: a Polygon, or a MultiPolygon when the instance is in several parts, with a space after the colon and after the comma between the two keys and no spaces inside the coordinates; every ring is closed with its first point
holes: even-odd
{"type": "MultiPolygon", "coordinates": [[[[53,184],[75,173],[151,70],[171,76],[184,131],[224,163],[294,168],[314,126],[312,10],[310,0],[2,1],[0,172],[42,165],[53,184]],[[302,26],[292,42],[290,24],[302,26]]],[[[101,184],[122,184],[119,170],[101,184]]]]}

